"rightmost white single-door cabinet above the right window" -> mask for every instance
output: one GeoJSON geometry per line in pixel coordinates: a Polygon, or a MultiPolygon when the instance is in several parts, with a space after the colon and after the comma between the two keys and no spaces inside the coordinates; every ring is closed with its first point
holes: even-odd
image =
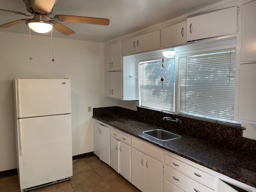
{"type": "Polygon", "coordinates": [[[235,34],[236,32],[236,6],[187,19],[187,41],[235,34]]]}

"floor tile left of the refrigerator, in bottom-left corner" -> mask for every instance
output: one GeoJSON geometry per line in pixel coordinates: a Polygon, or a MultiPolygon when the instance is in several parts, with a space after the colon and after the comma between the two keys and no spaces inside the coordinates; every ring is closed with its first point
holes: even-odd
{"type": "Polygon", "coordinates": [[[20,189],[17,174],[0,178],[0,192],[8,192],[16,189],[20,189]]]}

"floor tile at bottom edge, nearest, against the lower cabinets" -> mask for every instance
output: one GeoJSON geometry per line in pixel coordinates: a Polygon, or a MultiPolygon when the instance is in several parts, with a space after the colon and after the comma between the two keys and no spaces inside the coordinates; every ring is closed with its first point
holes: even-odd
{"type": "Polygon", "coordinates": [[[108,180],[107,183],[116,191],[116,192],[135,192],[138,190],[130,182],[128,182],[122,176],[108,180]]]}

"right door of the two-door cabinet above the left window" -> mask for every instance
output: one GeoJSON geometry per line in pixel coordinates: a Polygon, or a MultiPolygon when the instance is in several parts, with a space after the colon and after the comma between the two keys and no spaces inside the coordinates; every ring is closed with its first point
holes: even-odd
{"type": "Polygon", "coordinates": [[[160,48],[160,30],[136,37],[136,52],[160,48]]]}

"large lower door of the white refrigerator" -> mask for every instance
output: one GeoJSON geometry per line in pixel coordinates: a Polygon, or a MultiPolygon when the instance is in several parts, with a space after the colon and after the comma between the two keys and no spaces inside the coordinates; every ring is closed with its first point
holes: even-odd
{"type": "Polygon", "coordinates": [[[21,190],[72,176],[71,114],[18,120],[21,190]]]}

